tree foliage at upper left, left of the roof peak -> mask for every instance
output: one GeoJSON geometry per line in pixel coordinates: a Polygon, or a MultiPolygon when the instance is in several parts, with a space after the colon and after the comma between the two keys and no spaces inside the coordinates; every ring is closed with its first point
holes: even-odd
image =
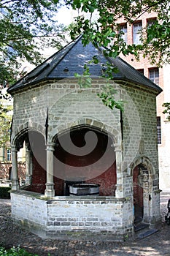
{"type": "Polygon", "coordinates": [[[40,63],[43,48],[61,47],[63,26],[56,20],[57,0],[0,1],[0,83],[13,83],[21,60],[40,63]]]}

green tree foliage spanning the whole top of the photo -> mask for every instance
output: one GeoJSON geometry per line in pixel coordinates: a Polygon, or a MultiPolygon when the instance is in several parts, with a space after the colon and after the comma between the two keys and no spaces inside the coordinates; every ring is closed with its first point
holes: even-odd
{"type": "Polygon", "coordinates": [[[1,82],[14,83],[21,60],[38,64],[43,60],[40,50],[61,46],[65,29],[57,23],[57,12],[63,5],[80,13],[74,24],[69,26],[72,39],[83,33],[84,45],[89,42],[103,45],[107,48],[106,55],[113,58],[120,53],[132,53],[139,59],[139,53],[143,53],[152,63],[161,65],[163,61],[169,62],[169,0],[1,0],[1,82]],[[144,12],[151,11],[158,13],[157,22],[142,31],[142,44],[126,45],[123,32],[117,26],[117,18],[124,17],[125,22],[131,25],[144,12]]]}

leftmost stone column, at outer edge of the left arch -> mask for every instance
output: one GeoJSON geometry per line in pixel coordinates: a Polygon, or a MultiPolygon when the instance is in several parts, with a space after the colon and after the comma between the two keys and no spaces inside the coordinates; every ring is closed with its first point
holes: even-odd
{"type": "Polygon", "coordinates": [[[18,150],[15,146],[11,147],[12,153],[12,190],[20,189],[18,181],[18,150]]]}

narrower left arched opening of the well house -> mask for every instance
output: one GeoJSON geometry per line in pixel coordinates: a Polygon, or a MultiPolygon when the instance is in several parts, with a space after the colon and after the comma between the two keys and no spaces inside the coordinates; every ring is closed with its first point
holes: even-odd
{"type": "Polygon", "coordinates": [[[26,185],[23,189],[32,192],[45,192],[46,183],[46,146],[42,133],[23,129],[13,142],[17,150],[26,148],[26,185]]]}

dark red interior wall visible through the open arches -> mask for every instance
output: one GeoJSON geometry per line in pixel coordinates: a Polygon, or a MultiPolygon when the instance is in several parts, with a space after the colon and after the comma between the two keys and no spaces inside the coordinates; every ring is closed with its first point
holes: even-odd
{"type": "MultiPolygon", "coordinates": [[[[72,136],[74,145],[80,147],[84,146],[83,143],[85,143],[84,136],[86,132],[88,132],[88,129],[82,129],[81,131],[79,130],[78,132],[74,132],[72,136]]],[[[90,154],[85,156],[75,156],[74,154],[69,154],[63,150],[60,144],[55,148],[54,158],[57,158],[63,162],[63,165],[58,165],[58,163],[54,164],[55,195],[64,194],[64,179],[66,180],[66,177],[84,177],[85,182],[100,185],[100,195],[115,195],[116,163],[115,152],[111,147],[112,140],[108,138],[107,135],[102,135],[100,132],[96,132],[96,135],[98,136],[98,143],[96,148],[94,148],[90,154]],[[93,166],[93,163],[101,159],[107,147],[109,150],[107,152],[107,156],[104,158],[104,161],[101,161],[100,165],[93,166]],[[112,161],[110,161],[110,159],[112,161]],[[111,164],[108,167],[106,163],[109,161],[111,164]],[[71,167],[69,169],[69,166],[73,167],[72,170],[71,167]],[[86,166],[87,172],[81,173],[81,167],[85,167],[86,169],[86,166]],[[91,169],[92,167],[93,169],[91,169]],[[62,174],[65,178],[61,178],[62,174]]],[[[39,146],[40,145],[41,143],[39,146]]],[[[39,146],[37,146],[37,148],[34,146],[34,152],[36,152],[36,149],[40,151],[39,146]]],[[[41,156],[43,158],[43,163],[45,164],[45,146],[41,145],[40,148],[41,152],[38,152],[39,154],[37,154],[37,156],[41,156]]],[[[27,188],[27,190],[44,193],[46,183],[46,170],[40,163],[40,159],[33,157],[32,184],[27,188]]]]}

